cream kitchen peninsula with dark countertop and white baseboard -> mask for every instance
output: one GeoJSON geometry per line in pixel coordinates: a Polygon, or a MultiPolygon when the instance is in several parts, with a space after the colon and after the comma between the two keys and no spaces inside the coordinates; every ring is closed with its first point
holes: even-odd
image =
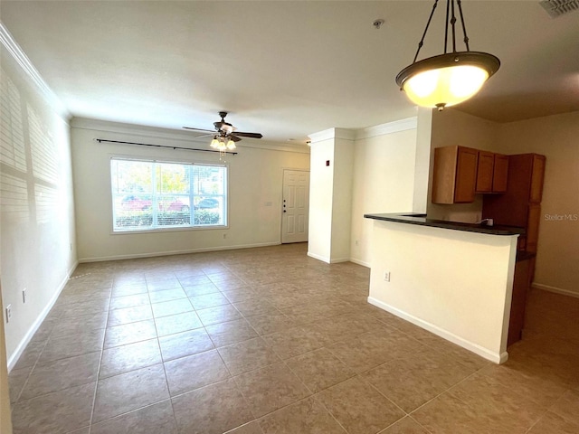
{"type": "Polygon", "coordinates": [[[374,220],[368,302],[494,362],[507,361],[522,228],[365,214],[374,220]]]}

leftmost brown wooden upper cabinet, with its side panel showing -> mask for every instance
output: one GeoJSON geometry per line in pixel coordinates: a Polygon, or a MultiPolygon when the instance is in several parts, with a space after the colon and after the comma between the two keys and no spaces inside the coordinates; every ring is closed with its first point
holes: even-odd
{"type": "Polygon", "coordinates": [[[474,202],[479,151],[465,146],[434,149],[432,203],[474,202]]]}

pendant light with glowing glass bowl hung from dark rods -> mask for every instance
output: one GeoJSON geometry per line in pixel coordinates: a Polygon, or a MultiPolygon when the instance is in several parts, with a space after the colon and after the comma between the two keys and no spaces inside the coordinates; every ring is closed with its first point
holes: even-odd
{"type": "Polygon", "coordinates": [[[474,96],[484,82],[498,71],[500,61],[487,52],[470,52],[469,37],[464,25],[460,0],[446,1],[446,32],[444,34],[444,53],[416,61],[424,43],[424,37],[432,21],[439,0],[434,0],[431,15],[426,23],[422,40],[414,55],[413,64],[407,66],[396,76],[396,84],[406,92],[406,96],[421,107],[436,108],[459,104],[474,96]],[[455,4],[460,14],[460,24],[464,35],[465,52],[456,51],[455,4]],[[451,30],[452,52],[448,52],[449,27],[451,30]]]}

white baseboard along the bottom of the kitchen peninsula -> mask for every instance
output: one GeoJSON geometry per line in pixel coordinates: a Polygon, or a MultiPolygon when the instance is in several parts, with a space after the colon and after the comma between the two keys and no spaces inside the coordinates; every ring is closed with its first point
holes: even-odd
{"type": "Polygon", "coordinates": [[[462,348],[469,350],[474,354],[478,354],[479,356],[489,360],[493,363],[505,363],[508,360],[508,353],[505,351],[503,353],[495,353],[494,351],[490,351],[488,348],[480,346],[479,344],[474,344],[466,339],[461,338],[460,336],[454,335],[451,332],[442,329],[437,325],[433,325],[427,321],[424,321],[416,316],[412,316],[403,312],[396,307],[392,307],[380,300],[376,300],[374,297],[368,297],[368,303],[374,305],[375,307],[380,307],[391,314],[402,318],[413,325],[418,325],[419,327],[423,328],[424,330],[428,330],[429,332],[433,333],[434,335],[441,336],[441,338],[450,341],[452,344],[460,345],[462,348]]]}

